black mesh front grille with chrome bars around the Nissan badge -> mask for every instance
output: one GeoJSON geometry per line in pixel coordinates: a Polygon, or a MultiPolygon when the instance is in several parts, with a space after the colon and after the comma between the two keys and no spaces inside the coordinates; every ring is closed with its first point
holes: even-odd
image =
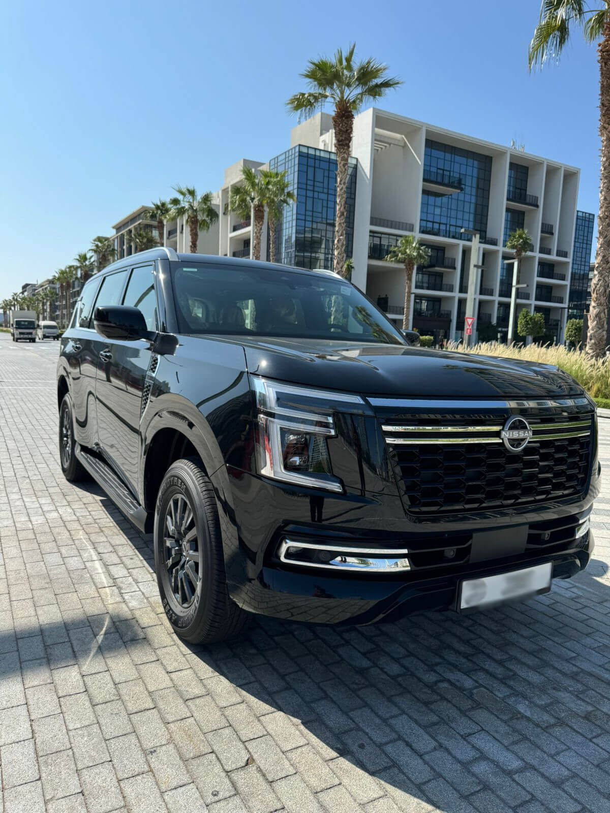
{"type": "Polygon", "coordinates": [[[591,459],[593,416],[527,416],[532,437],[508,450],[500,432],[508,415],[403,416],[382,421],[408,511],[480,511],[580,495],[591,459]]]}

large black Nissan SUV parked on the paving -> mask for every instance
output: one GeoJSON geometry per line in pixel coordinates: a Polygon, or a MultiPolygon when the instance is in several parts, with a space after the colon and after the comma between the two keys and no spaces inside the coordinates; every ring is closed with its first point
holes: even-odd
{"type": "Polygon", "coordinates": [[[366,624],[589,562],[595,406],[556,367],[410,347],[330,272],[155,249],[82,289],[59,448],[155,537],[176,633],[366,624]]]}

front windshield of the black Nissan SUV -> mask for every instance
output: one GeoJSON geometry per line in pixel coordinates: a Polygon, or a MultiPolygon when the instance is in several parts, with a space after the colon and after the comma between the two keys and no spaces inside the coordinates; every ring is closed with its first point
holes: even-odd
{"type": "Polygon", "coordinates": [[[404,344],[384,315],[337,277],[207,263],[172,274],[181,333],[404,344]]]}

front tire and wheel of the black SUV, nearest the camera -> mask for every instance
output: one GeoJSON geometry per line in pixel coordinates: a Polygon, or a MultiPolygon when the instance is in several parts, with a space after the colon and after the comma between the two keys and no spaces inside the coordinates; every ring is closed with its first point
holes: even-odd
{"type": "Polygon", "coordinates": [[[163,477],[155,508],[155,570],[165,614],[185,641],[225,641],[249,620],[229,598],[214,489],[198,460],[177,460],[163,477]]]}

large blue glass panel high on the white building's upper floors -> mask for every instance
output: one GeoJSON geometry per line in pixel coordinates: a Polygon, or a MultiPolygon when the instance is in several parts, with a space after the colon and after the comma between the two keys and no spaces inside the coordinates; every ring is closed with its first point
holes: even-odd
{"type": "Polygon", "coordinates": [[[471,150],[426,139],[424,180],[461,191],[447,193],[424,190],[421,194],[420,232],[471,240],[462,228],[474,228],[487,234],[490,202],[491,157],[471,150]]]}

